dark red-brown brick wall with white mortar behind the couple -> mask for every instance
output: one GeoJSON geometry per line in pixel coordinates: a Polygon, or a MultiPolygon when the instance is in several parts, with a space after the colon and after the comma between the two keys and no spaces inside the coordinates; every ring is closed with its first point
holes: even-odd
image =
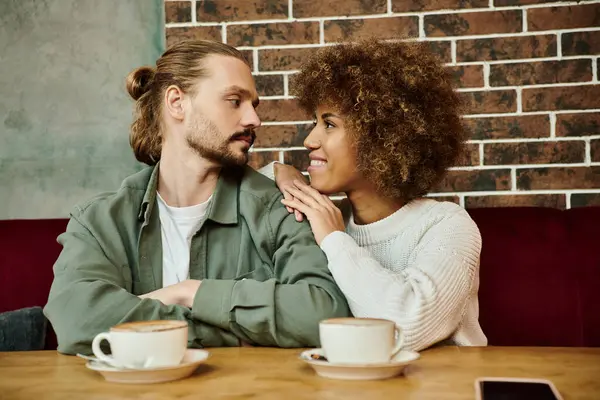
{"type": "Polygon", "coordinates": [[[167,0],[165,11],[168,44],[214,39],[247,54],[263,120],[254,166],[307,166],[310,121],[288,91],[307,54],[402,35],[431,45],[470,105],[469,154],[431,196],[465,207],[600,205],[600,1],[167,0]]]}

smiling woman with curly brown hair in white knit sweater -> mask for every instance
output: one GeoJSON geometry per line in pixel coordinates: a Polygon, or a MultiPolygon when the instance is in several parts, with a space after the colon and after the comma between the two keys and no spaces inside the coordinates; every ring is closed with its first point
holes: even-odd
{"type": "Polygon", "coordinates": [[[422,198],[465,139],[449,73],[424,44],[369,40],[320,49],[295,78],[315,116],[310,186],[277,165],[282,203],[310,222],[353,314],[395,321],[413,350],[486,345],[479,230],[456,204],[422,198]],[[345,218],[328,197],[341,192],[345,218]]]}

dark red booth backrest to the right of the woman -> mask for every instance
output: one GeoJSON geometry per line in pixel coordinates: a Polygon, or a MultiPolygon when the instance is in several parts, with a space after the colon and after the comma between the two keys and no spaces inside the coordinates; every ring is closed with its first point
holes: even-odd
{"type": "Polygon", "coordinates": [[[489,343],[600,346],[600,208],[469,213],[483,240],[479,320],[489,343]]]}

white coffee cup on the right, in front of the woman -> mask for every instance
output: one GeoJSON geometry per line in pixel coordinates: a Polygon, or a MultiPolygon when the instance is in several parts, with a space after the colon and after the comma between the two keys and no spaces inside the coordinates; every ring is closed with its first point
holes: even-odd
{"type": "Polygon", "coordinates": [[[333,318],[319,324],[321,348],[330,363],[389,362],[404,342],[393,321],[375,318],[333,318]]]}

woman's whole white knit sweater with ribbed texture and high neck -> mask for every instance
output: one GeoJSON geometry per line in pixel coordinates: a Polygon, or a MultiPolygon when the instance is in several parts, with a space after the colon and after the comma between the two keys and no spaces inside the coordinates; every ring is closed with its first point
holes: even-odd
{"type": "Polygon", "coordinates": [[[485,346],[479,326],[481,236],[454,203],[415,200],[368,225],[350,215],[346,233],[321,243],[356,317],[395,321],[404,347],[485,346]]]}

